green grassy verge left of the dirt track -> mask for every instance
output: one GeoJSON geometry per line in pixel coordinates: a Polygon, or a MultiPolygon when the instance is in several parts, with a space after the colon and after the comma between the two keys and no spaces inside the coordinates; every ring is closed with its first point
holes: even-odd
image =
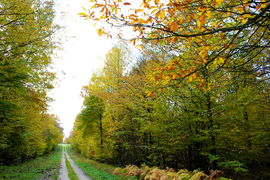
{"type": "Polygon", "coordinates": [[[56,180],[61,163],[62,145],[53,151],[15,166],[0,166],[0,180],[56,180]]]}

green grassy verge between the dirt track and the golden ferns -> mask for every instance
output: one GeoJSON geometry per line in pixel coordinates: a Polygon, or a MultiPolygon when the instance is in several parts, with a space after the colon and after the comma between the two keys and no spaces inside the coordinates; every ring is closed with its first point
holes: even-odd
{"type": "Polygon", "coordinates": [[[82,169],[84,172],[95,180],[118,180],[119,177],[111,175],[110,173],[116,167],[110,166],[108,164],[99,163],[97,161],[87,159],[82,157],[79,153],[74,152],[70,146],[66,146],[68,155],[72,160],[82,169]]]}

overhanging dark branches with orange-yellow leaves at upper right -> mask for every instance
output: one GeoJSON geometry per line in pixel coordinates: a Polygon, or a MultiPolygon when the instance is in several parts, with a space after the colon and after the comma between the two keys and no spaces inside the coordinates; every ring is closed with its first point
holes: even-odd
{"type": "MultiPolygon", "coordinates": [[[[121,0],[90,2],[92,7],[80,16],[119,27],[116,35],[121,39],[125,39],[121,28],[131,26],[138,34],[129,39],[131,43],[151,42],[171,54],[153,70],[154,84],[196,79],[197,88],[207,91],[226,83],[228,77],[234,81],[250,74],[269,78],[268,1],[147,0],[140,7],[121,0]],[[128,11],[121,10],[125,6],[128,11]],[[210,76],[215,78],[205,80],[210,76]]],[[[111,36],[102,27],[97,31],[111,36]]]]}

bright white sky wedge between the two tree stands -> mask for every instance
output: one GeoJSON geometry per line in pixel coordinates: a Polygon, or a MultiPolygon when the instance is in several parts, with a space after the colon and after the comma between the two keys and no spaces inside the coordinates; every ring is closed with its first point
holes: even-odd
{"type": "MultiPolygon", "coordinates": [[[[87,0],[65,0],[56,1],[59,3],[59,11],[68,12],[64,19],[56,21],[61,26],[67,25],[65,31],[67,38],[63,35],[64,52],[58,52],[61,58],[54,60],[55,70],[58,71],[59,86],[50,91],[49,96],[55,101],[51,103],[49,113],[57,115],[64,128],[64,133],[68,137],[73,127],[76,115],[80,112],[83,99],[79,94],[83,85],[88,85],[91,74],[98,65],[96,59],[103,56],[113,46],[112,43],[119,41],[117,38],[107,39],[105,36],[99,37],[93,27],[93,21],[84,20],[77,13],[83,12],[82,7],[91,7],[87,0]],[[75,36],[75,38],[71,38],[75,36]],[[65,75],[61,73],[64,71],[65,75]]],[[[89,7],[89,8],[90,8],[89,7]]],[[[56,18],[59,18],[58,15],[56,18]]]]}

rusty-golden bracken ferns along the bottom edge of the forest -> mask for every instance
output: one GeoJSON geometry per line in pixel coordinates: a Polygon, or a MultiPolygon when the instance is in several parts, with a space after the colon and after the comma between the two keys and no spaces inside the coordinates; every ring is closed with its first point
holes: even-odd
{"type": "Polygon", "coordinates": [[[211,170],[207,176],[204,172],[194,170],[179,170],[175,172],[173,168],[166,167],[166,170],[158,169],[157,167],[149,167],[143,164],[141,168],[136,165],[128,165],[124,169],[116,168],[113,171],[114,175],[119,175],[119,179],[131,178],[137,180],[231,180],[220,177],[222,171],[211,170]]]}

